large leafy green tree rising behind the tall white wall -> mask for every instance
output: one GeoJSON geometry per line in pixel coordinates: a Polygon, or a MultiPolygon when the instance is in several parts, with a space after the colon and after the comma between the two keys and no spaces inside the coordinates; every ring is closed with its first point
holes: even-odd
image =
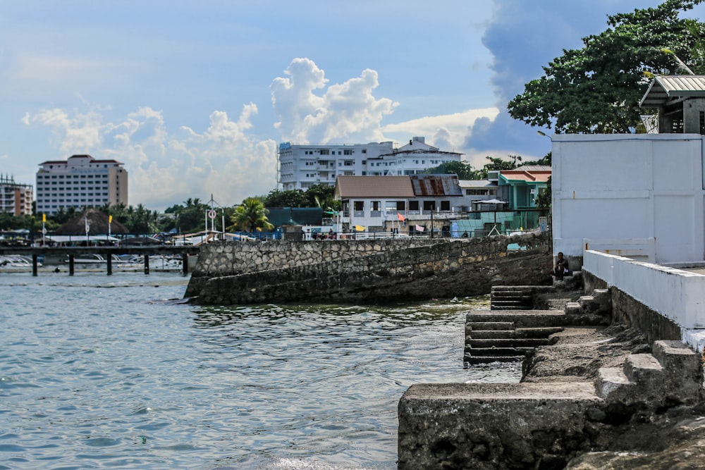
{"type": "Polygon", "coordinates": [[[649,74],[673,73],[676,59],[688,63],[702,44],[702,23],[678,18],[701,1],[666,0],[608,16],[606,31],[583,38],[582,49],[564,49],[525,85],[508,104],[510,116],[556,133],[634,132],[649,74]]]}

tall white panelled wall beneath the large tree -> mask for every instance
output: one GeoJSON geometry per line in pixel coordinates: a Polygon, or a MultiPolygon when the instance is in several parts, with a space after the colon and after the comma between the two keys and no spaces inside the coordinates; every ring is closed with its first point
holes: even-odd
{"type": "Polygon", "coordinates": [[[554,252],[581,256],[584,240],[654,239],[658,263],[705,259],[703,136],[567,134],[552,141],[554,252]]]}

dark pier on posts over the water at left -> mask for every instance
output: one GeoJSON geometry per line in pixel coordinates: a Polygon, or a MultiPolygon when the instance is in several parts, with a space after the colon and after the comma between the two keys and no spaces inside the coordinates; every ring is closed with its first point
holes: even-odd
{"type": "Polygon", "coordinates": [[[86,254],[100,254],[106,260],[108,275],[113,273],[114,254],[137,254],[144,256],[145,274],[149,274],[149,256],[156,254],[180,254],[181,267],[184,274],[188,274],[188,256],[198,254],[199,247],[194,246],[151,246],[151,247],[1,247],[0,255],[22,254],[32,256],[32,276],[37,276],[38,259],[40,255],[63,258],[68,256],[68,273],[73,276],[75,272],[75,257],[86,254]]]}

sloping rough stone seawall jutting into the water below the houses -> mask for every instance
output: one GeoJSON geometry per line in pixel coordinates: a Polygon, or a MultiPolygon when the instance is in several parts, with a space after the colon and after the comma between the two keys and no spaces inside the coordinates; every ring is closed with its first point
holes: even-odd
{"type": "Polygon", "coordinates": [[[487,294],[550,280],[548,234],[470,239],[216,242],[186,297],[201,304],[396,302],[487,294]],[[509,244],[522,249],[508,250],[509,244]]]}

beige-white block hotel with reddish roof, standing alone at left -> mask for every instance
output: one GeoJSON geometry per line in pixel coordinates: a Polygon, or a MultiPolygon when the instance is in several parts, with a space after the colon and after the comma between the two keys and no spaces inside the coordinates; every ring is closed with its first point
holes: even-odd
{"type": "Polygon", "coordinates": [[[60,209],[128,204],[128,172],[116,160],[73,155],[68,160],[39,163],[37,214],[60,209]]]}

